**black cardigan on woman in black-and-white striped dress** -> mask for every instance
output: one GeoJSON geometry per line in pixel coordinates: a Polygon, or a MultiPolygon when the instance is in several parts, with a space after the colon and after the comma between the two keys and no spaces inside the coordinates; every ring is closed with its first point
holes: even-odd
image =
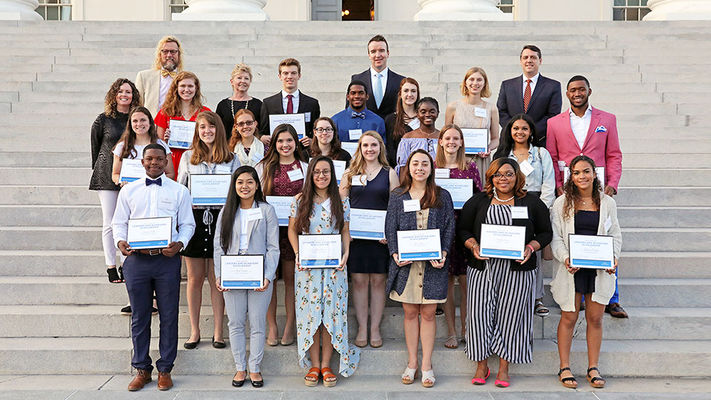
{"type": "MultiPolygon", "coordinates": [[[[464,203],[461,207],[461,215],[459,216],[459,228],[457,236],[462,243],[469,240],[471,237],[479,243],[481,239],[481,224],[486,221],[486,211],[491,205],[491,198],[486,192],[476,193],[471,199],[464,203]]],[[[550,226],[550,215],[548,209],[542,201],[535,195],[526,193],[522,199],[513,200],[513,205],[528,208],[528,220],[513,220],[513,225],[517,227],[526,227],[526,243],[535,240],[540,243],[540,247],[546,247],[553,239],[553,228],[550,226]]],[[[484,261],[474,258],[471,250],[467,249],[467,262],[471,268],[483,271],[484,261]]],[[[525,264],[518,264],[515,260],[509,260],[511,271],[530,271],[536,269],[536,257],[532,254],[525,264]]]]}

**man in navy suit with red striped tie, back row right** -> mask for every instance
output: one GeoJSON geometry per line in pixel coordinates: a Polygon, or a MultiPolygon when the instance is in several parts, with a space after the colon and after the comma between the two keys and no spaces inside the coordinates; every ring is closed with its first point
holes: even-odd
{"type": "Polygon", "coordinates": [[[501,82],[498,90],[498,123],[503,128],[516,114],[525,113],[535,121],[533,144],[545,148],[545,131],[550,117],[560,114],[560,82],[538,73],[542,63],[540,48],[525,45],[520,55],[523,75],[501,82]]]}

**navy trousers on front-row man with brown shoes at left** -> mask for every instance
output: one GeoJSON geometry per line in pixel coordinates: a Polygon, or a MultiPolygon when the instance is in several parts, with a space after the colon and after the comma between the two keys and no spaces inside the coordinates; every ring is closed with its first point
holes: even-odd
{"type": "Polygon", "coordinates": [[[161,321],[159,350],[156,361],[159,372],[171,372],[178,354],[178,300],[180,298],[180,256],[132,254],[124,261],[124,277],[131,301],[131,336],[134,345],[131,365],[153,370],[151,345],[151,309],[156,293],[161,321]]]}

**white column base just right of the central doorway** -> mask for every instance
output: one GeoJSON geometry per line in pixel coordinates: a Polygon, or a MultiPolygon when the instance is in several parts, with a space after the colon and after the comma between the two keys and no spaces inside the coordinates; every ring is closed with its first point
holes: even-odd
{"type": "Polygon", "coordinates": [[[415,21],[512,21],[513,14],[496,8],[497,0],[417,0],[415,21]]]}

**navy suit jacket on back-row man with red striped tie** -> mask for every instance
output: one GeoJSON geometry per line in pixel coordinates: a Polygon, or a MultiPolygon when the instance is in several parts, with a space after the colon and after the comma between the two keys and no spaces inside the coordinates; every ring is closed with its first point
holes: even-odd
{"type": "MultiPolygon", "coordinates": [[[[540,75],[526,113],[535,121],[534,146],[545,148],[548,119],[560,114],[561,106],[560,82],[540,75]]],[[[523,113],[523,75],[501,82],[496,107],[498,123],[502,128],[506,127],[511,117],[523,113]]]]}

